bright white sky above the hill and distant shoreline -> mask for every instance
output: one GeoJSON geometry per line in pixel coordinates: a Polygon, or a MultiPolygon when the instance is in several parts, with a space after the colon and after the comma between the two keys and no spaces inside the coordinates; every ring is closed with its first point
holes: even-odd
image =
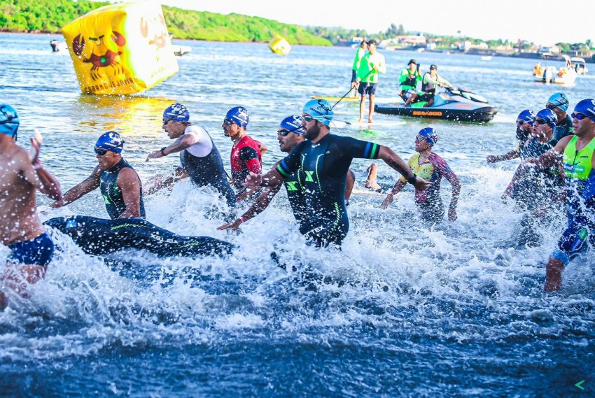
{"type": "Polygon", "coordinates": [[[407,31],[474,38],[522,38],[540,45],[595,42],[592,0],[162,0],[163,4],[213,13],[265,17],[288,24],[407,31]],[[410,5],[414,5],[412,8],[410,5]],[[566,6],[568,5],[568,6],[566,6]],[[584,15],[584,17],[581,17],[584,15]],[[581,21],[581,22],[575,22],[581,21]]]}

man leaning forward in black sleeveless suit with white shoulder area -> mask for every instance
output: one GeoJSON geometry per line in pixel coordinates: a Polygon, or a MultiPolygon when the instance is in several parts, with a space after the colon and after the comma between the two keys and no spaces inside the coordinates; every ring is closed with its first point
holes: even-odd
{"type": "Polygon", "coordinates": [[[225,177],[223,160],[215,143],[207,130],[191,124],[190,113],[182,104],[172,104],[163,112],[163,129],[170,139],[176,141],[172,145],[151,152],[148,159],[158,159],[172,153],[180,152],[180,166],[174,171],[174,176],[162,178],[156,176],[157,181],[148,190],[147,194],[157,192],[163,187],[168,187],[182,178],[190,177],[197,187],[211,185],[228,203],[235,206],[235,193],[225,177]]]}

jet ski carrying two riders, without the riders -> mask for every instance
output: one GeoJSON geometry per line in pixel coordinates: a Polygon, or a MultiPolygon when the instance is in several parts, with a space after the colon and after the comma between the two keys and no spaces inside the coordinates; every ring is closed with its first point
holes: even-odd
{"type": "Polygon", "coordinates": [[[498,112],[498,109],[488,104],[488,101],[481,95],[464,90],[447,89],[435,94],[432,106],[425,106],[426,104],[426,101],[416,102],[407,107],[402,104],[380,104],[374,106],[374,111],[386,115],[459,120],[461,122],[489,122],[498,112]]]}

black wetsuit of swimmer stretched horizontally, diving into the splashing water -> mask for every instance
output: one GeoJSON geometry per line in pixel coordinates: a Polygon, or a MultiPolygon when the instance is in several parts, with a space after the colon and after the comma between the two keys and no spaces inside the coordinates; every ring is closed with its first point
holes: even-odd
{"type": "Polygon", "coordinates": [[[142,218],[104,220],[86,215],[52,218],[43,223],[72,238],[90,255],[106,255],[126,248],[148,250],[160,257],[225,255],[231,243],[209,236],[181,236],[142,218]]]}

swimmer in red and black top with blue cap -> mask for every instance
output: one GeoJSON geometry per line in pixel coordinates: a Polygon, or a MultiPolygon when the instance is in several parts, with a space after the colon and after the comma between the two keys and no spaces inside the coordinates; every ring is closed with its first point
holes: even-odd
{"type": "Polygon", "coordinates": [[[262,172],[262,144],[248,136],[248,110],[244,106],[231,108],[223,119],[223,134],[232,140],[231,164],[232,182],[237,190],[236,201],[242,201],[256,194],[244,187],[248,173],[262,172]]]}

